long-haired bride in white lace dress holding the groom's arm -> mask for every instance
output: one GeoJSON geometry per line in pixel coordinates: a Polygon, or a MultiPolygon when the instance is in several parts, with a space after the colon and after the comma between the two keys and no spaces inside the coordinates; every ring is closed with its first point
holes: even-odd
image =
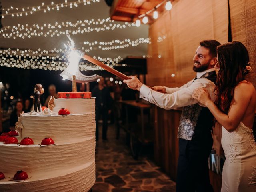
{"type": "Polygon", "coordinates": [[[222,125],[226,161],[221,192],[255,192],[256,144],[252,126],[256,91],[245,79],[250,72],[248,51],[241,42],[233,41],[218,46],[217,53],[216,102],[202,88],[194,91],[193,98],[208,107],[222,125]]]}

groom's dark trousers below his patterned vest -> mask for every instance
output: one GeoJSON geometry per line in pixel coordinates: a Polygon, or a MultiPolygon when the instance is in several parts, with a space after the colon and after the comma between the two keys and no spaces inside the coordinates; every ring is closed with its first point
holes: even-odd
{"type": "Polygon", "coordinates": [[[191,141],[179,139],[176,192],[213,192],[208,157],[212,150],[211,131],[196,126],[191,141]]]}

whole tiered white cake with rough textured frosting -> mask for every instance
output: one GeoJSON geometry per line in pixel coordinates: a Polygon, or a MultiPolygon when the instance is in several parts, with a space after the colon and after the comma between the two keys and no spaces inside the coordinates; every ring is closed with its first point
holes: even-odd
{"type": "Polygon", "coordinates": [[[22,115],[22,136],[40,144],[50,137],[56,145],[18,146],[0,142],[1,192],[87,192],[95,182],[95,99],[56,99],[56,115],[22,115]],[[58,115],[60,108],[70,115],[58,115]],[[10,181],[18,170],[24,182],[10,181]]]}

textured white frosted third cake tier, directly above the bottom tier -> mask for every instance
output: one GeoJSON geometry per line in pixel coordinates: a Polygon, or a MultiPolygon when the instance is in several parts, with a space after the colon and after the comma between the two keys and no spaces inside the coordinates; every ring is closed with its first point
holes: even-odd
{"type": "Polygon", "coordinates": [[[0,142],[1,157],[4,157],[1,160],[0,170],[4,174],[11,175],[17,170],[24,170],[28,175],[44,175],[46,172],[50,175],[51,172],[94,161],[94,151],[94,137],[74,143],[43,147],[40,145],[21,147],[17,144],[6,145],[0,142]]]}

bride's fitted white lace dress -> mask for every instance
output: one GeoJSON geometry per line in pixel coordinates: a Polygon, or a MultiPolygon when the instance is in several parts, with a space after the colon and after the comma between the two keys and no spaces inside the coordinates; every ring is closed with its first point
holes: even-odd
{"type": "Polygon", "coordinates": [[[221,192],[256,192],[256,144],[252,130],[242,122],[232,133],[222,126],[221,143],[226,156],[221,192]]]}

